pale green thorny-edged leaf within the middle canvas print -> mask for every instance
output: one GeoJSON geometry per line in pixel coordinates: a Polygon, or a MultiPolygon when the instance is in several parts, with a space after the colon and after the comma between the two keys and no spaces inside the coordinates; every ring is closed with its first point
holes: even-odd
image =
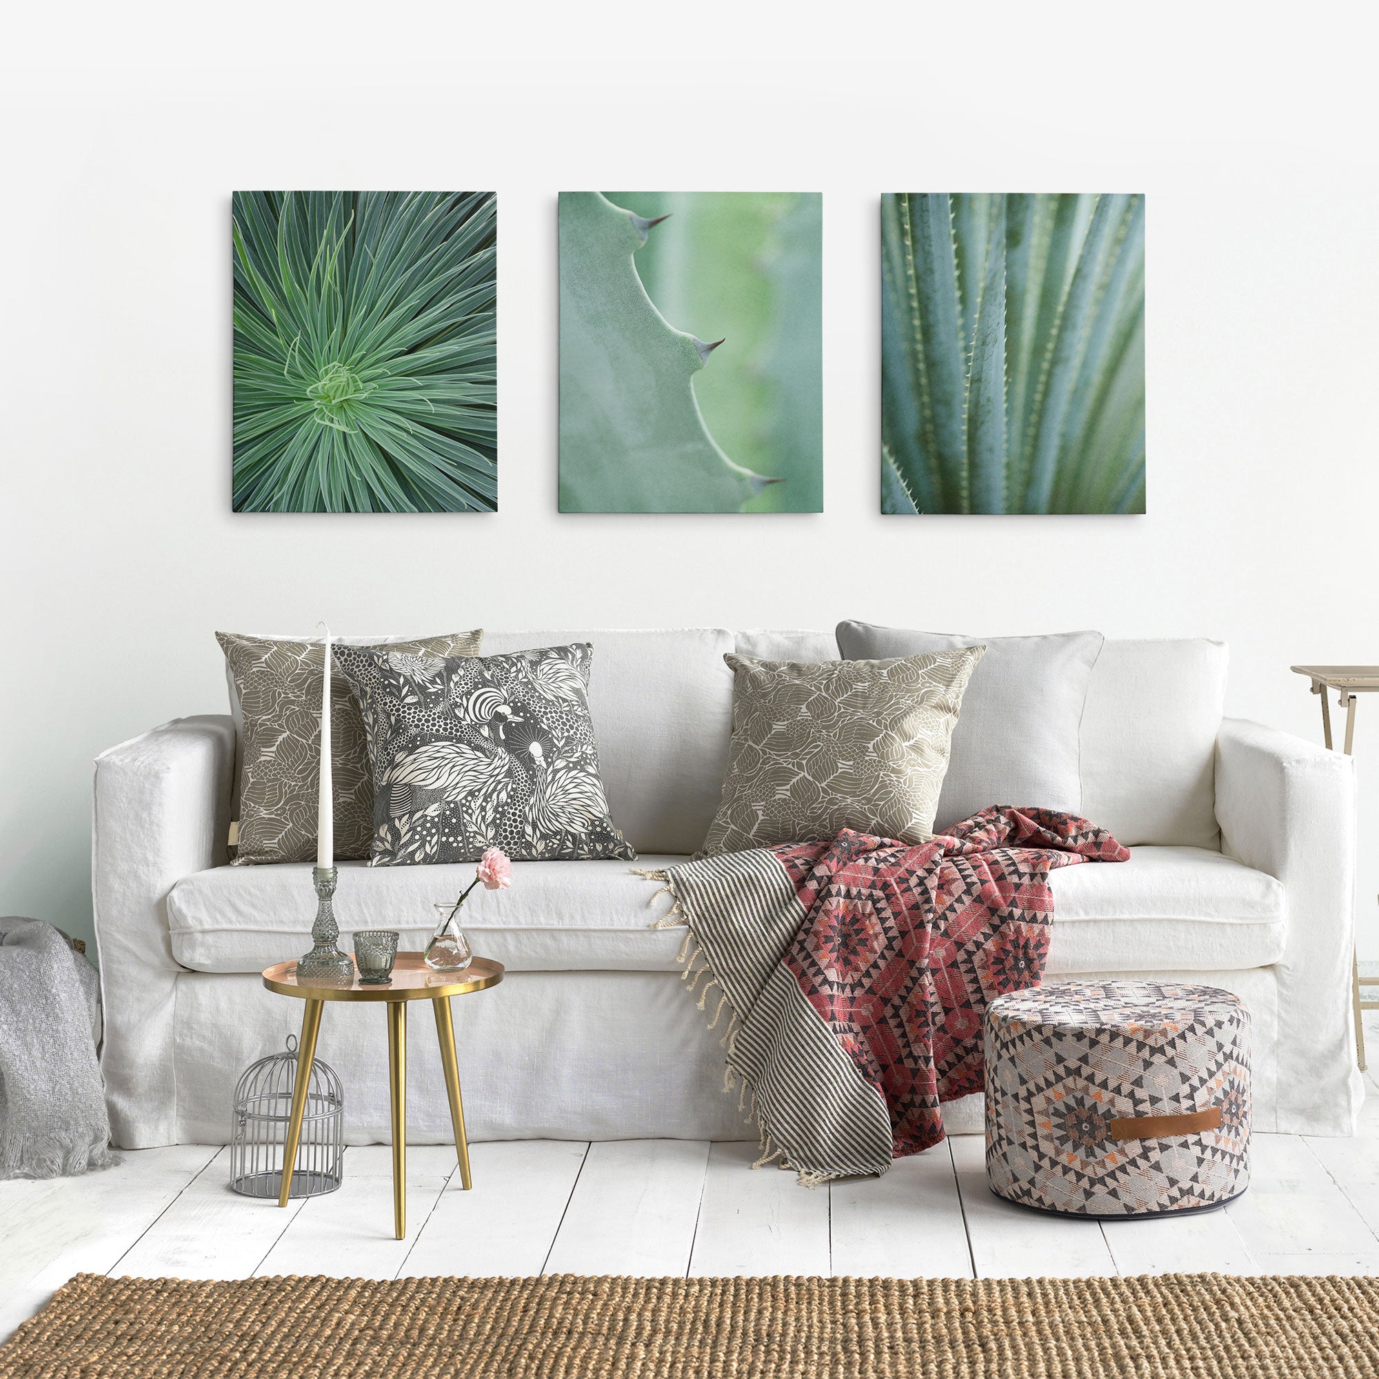
{"type": "Polygon", "coordinates": [[[598,192],[560,194],[560,510],[739,512],[771,480],[709,434],[692,378],[714,346],[647,296],[648,233],[598,192]]]}

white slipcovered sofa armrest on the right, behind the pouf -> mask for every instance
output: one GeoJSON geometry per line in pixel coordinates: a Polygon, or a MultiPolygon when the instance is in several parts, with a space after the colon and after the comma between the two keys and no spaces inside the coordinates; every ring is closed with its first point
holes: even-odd
{"type": "Polygon", "coordinates": [[[1278,1124],[1349,1135],[1364,1100],[1356,1065],[1356,776],[1338,752],[1244,718],[1216,739],[1222,851],[1284,884],[1278,978],[1278,1124]]]}

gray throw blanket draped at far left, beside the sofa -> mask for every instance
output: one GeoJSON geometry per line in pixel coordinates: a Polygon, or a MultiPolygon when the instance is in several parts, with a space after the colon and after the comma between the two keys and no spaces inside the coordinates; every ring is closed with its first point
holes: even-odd
{"type": "Polygon", "coordinates": [[[0,1178],[120,1161],[95,1058],[98,987],[59,929],[0,917],[0,1178]]]}

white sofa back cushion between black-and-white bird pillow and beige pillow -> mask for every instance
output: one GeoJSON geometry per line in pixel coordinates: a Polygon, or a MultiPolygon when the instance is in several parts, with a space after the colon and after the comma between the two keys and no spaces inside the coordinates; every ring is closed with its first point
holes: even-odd
{"type": "Polygon", "coordinates": [[[484,654],[593,644],[589,713],[608,812],[638,852],[695,852],[718,808],[732,736],[732,633],[485,632],[484,654]]]}

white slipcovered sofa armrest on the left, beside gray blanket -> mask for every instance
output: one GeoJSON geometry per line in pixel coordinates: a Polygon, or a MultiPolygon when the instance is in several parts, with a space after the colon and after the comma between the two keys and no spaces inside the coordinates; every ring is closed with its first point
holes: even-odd
{"type": "Polygon", "coordinates": [[[101,952],[105,1071],[117,1145],[177,1136],[172,1066],[179,967],[167,898],[193,872],[226,860],[234,724],[177,718],[95,760],[91,892],[101,952]]]}

